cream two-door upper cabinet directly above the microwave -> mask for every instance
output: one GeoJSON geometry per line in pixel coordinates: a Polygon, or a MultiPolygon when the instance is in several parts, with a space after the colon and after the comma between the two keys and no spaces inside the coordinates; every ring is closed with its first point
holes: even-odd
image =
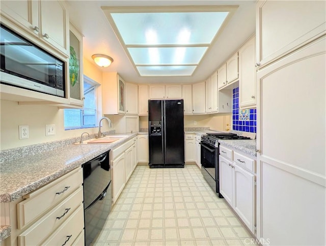
{"type": "Polygon", "coordinates": [[[69,15],[63,1],[1,1],[1,14],[42,44],[69,56],[69,15]]]}

